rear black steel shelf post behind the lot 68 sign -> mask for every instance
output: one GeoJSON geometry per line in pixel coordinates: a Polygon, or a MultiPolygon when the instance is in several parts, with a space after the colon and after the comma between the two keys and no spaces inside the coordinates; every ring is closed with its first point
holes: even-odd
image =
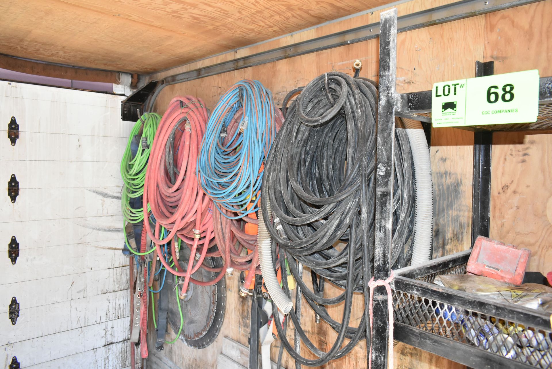
{"type": "MultiPolygon", "coordinates": [[[[475,76],[492,76],[494,62],[475,62],[475,76]]],[[[489,237],[491,217],[492,132],[474,133],[474,175],[471,203],[471,246],[477,236],[489,237]]]]}

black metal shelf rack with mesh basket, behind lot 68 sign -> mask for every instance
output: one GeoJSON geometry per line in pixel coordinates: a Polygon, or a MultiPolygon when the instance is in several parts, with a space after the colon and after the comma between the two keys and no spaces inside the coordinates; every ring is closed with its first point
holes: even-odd
{"type": "MultiPolygon", "coordinates": [[[[392,152],[395,117],[431,122],[431,92],[395,93],[396,9],[381,13],[374,277],[390,275],[392,152]]],[[[476,62],[476,77],[493,62],[476,62]]],[[[492,132],[552,129],[552,78],[540,79],[536,123],[458,127],[474,133],[472,243],[489,236],[492,132]]],[[[431,128],[431,126],[429,126],[431,128]]],[[[391,282],[394,338],[473,368],[552,369],[552,326],[547,314],[433,284],[437,275],[465,272],[470,251],[395,271],[391,282]]],[[[387,366],[389,335],[384,288],[374,291],[373,367],[387,366]]],[[[389,347],[392,350],[392,347],[389,347]]]]}

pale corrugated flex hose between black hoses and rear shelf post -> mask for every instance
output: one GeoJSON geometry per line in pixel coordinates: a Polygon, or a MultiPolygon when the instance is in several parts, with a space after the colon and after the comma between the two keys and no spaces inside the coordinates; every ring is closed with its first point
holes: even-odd
{"type": "Polygon", "coordinates": [[[416,183],[416,214],[414,217],[414,245],[410,265],[431,260],[433,239],[433,180],[431,157],[426,134],[417,120],[405,119],[406,134],[412,148],[414,180],[416,183]]]}

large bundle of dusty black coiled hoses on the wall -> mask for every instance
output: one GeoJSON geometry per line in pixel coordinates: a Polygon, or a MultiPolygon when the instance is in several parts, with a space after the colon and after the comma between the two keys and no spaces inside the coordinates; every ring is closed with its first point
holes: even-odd
{"type": "MultiPolygon", "coordinates": [[[[286,278],[282,282],[287,299],[274,283],[273,273],[265,271],[272,263],[267,247],[270,238],[263,239],[261,265],[274,308],[289,310],[296,334],[317,359],[307,359],[291,346],[278,314],[274,314],[282,344],[297,363],[319,366],[347,354],[360,339],[370,339],[365,314],[358,328],[349,326],[349,320],[353,292],[364,292],[368,298],[364,291],[368,281],[363,279],[370,278],[373,270],[378,93],[365,78],[325,73],[290,92],[284,109],[298,92],[265,163],[262,193],[268,201],[262,202],[262,213],[272,248],[279,246],[280,267],[288,261],[302,297],[337,332],[328,352],[312,344],[295,310],[289,308],[286,278]],[[300,265],[313,272],[314,291],[302,281],[300,265]],[[324,280],[344,289],[343,293],[324,298],[319,291],[324,280]],[[336,321],[326,306],[341,302],[343,317],[336,321]],[[349,342],[343,346],[345,338],[349,342]]],[[[410,144],[404,129],[396,129],[395,135],[393,268],[406,266],[410,258],[407,241],[415,209],[410,144]]]]}

